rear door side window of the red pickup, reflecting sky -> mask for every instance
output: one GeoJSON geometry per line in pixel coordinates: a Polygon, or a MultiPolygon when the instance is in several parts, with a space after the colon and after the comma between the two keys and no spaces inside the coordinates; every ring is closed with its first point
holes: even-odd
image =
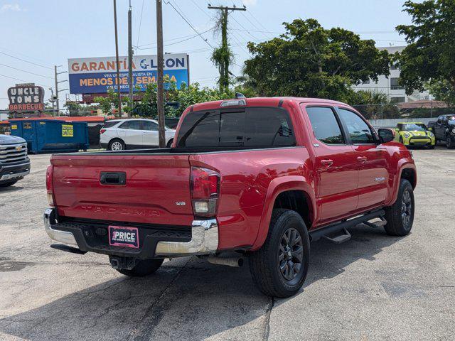
{"type": "Polygon", "coordinates": [[[344,145],[341,127],[335,113],[329,107],[306,107],[306,113],[311,121],[314,136],[324,144],[344,145]]]}

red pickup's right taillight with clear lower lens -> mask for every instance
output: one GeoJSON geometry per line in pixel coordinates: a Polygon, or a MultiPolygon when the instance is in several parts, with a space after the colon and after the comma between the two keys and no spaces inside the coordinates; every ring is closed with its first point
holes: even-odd
{"type": "Polygon", "coordinates": [[[220,174],[207,168],[191,167],[191,201],[195,215],[214,217],[220,194],[220,174]]]}

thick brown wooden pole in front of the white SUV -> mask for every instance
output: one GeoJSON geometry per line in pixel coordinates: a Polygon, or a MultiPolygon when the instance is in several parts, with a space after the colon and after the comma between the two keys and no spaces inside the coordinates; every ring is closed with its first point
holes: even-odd
{"type": "Polygon", "coordinates": [[[161,0],[156,0],[156,38],[157,38],[157,55],[158,55],[158,139],[159,148],[166,147],[166,136],[164,131],[164,52],[163,52],[163,4],[161,0]]]}

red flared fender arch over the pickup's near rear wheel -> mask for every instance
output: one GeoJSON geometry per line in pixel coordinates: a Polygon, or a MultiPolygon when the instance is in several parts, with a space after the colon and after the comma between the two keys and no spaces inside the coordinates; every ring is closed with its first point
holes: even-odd
{"type": "MultiPolygon", "coordinates": [[[[259,230],[257,232],[255,243],[252,246],[252,251],[255,251],[262,247],[262,244],[264,244],[265,239],[267,238],[274,202],[277,199],[278,195],[289,190],[303,191],[306,195],[307,200],[309,200],[309,204],[311,204],[310,216],[317,217],[316,196],[314,194],[314,188],[309,185],[304,176],[289,175],[274,178],[272,181],[270,181],[269,187],[267,188],[267,194],[264,200],[264,208],[259,223],[259,230]]],[[[309,228],[309,226],[307,228],[309,228]]]]}

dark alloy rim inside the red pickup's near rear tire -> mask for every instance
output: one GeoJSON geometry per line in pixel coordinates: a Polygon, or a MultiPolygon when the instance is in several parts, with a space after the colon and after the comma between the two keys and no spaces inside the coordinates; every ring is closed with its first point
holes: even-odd
{"type": "Polygon", "coordinates": [[[289,228],[284,231],[279,243],[278,264],[284,279],[291,281],[299,274],[304,261],[304,247],[299,231],[289,228]]]}

